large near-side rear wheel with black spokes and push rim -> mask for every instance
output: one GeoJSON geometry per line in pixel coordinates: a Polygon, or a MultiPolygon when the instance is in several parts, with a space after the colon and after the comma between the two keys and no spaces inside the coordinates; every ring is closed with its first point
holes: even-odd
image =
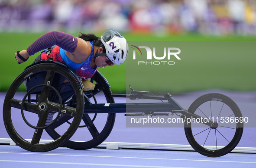
{"type": "Polygon", "coordinates": [[[40,62],[26,68],[11,84],[3,103],[3,122],[17,145],[32,152],[46,152],[62,146],[75,133],[83,115],[83,102],[83,91],[67,68],[54,62],[40,62]],[[65,79],[73,90],[76,107],[62,106],[58,85],[65,79]],[[23,83],[26,94],[18,92],[23,83]],[[52,121],[48,121],[50,115],[52,121]],[[44,130],[57,124],[61,116],[73,118],[72,123],[60,137],[43,141],[49,139],[44,130]]]}

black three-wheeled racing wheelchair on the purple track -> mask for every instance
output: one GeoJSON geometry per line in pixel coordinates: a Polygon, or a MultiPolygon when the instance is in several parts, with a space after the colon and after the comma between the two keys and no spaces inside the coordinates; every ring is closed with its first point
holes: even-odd
{"type": "Polygon", "coordinates": [[[32,152],[46,152],[59,146],[91,149],[108,137],[116,113],[126,113],[126,116],[177,114],[187,121],[184,129],[190,145],[209,157],[229,153],[242,137],[243,121],[224,125],[225,118],[241,118],[242,114],[236,103],[222,94],[205,94],[186,110],[169,93],[152,96],[147,91],[131,88],[130,94],[113,94],[110,84],[98,71],[91,82],[95,84],[94,90],[83,91],[75,72],[59,62],[40,61],[26,67],[11,84],[3,104],[3,121],[11,139],[32,152]],[[27,92],[20,93],[19,88],[24,85],[27,92]],[[114,97],[161,102],[115,103],[114,97]],[[198,122],[188,122],[191,118],[198,122]],[[74,139],[76,132],[83,139],[74,139]],[[52,140],[43,142],[43,139],[52,140]]]}

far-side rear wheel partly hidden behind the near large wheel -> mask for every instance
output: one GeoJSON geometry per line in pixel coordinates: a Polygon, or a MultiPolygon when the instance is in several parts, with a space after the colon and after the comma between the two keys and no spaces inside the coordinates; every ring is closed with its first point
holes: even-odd
{"type": "MultiPolygon", "coordinates": [[[[111,96],[112,92],[109,86],[104,83],[104,80],[106,79],[100,78],[99,73],[94,75],[96,87],[88,95],[84,94],[85,103],[114,103],[114,99],[111,96]],[[104,100],[99,100],[99,96],[104,96],[104,100]]],[[[70,149],[85,150],[100,145],[112,131],[115,116],[115,113],[84,113],[78,130],[64,146],[70,149]]],[[[46,131],[54,139],[59,137],[58,133],[51,128],[47,128],[46,131]]]]}

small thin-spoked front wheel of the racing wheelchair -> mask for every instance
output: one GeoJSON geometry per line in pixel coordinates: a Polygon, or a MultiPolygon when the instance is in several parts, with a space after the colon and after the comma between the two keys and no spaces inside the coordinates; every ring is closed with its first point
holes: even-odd
{"type": "Polygon", "coordinates": [[[229,97],[219,93],[205,94],[191,104],[188,112],[217,123],[211,128],[200,123],[199,119],[185,122],[188,142],[200,154],[224,156],[239,143],[243,134],[243,117],[237,104],[229,97]]]}

